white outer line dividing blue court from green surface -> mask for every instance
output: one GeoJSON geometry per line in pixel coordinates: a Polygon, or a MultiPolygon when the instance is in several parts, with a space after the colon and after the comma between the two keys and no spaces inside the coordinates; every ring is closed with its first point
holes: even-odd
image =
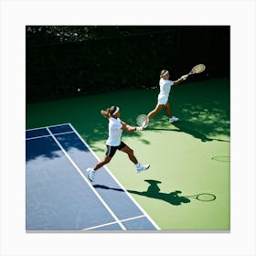
{"type": "MultiPolygon", "coordinates": [[[[91,151],[91,154],[94,155],[97,160],[100,160],[99,156],[96,155],[94,151],[92,151],[92,149],[91,149],[91,147],[89,146],[89,144],[87,144],[87,143],[83,140],[83,138],[80,136],[80,133],[78,133],[78,132],[76,131],[76,129],[73,127],[73,125],[72,125],[71,123],[69,123],[69,125],[70,125],[70,127],[72,128],[72,130],[79,136],[79,138],[80,138],[80,140],[82,141],[82,143],[85,144],[85,145],[89,148],[89,150],[91,151]]],[[[133,201],[134,205],[136,205],[137,208],[139,208],[139,209],[144,213],[144,216],[145,216],[147,219],[150,220],[150,222],[151,222],[152,225],[155,227],[155,229],[161,230],[161,229],[158,227],[158,225],[155,223],[155,221],[154,221],[153,219],[151,219],[150,216],[145,212],[144,208],[142,208],[142,207],[135,201],[135,199],[127,192],[127,190],[126,190],[126,189],[123,187],[123,185],[116,179],[116,177],[112,175],[112,172],[108,169],[108,167],[107,167],[106,165],[104,165],[104,168],[107,170],[107,172],[109,173],[109,175],[112,176],[112,178],[114,179],[114,181],[115,181],[121,188],[123,188],[124,193],[127,195],[127,197],[129,197],[129,198],[133,201]]]]}

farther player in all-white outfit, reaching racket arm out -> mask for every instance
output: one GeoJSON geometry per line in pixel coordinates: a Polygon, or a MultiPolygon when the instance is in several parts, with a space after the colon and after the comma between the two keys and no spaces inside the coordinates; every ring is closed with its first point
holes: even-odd
{"type": "Polygon", "coordinates": [[[153,116],[155,116],[156,113],[160,112],[163,108],[166,109],[166,113],[167,113],[167,116],[169,117],[170,123],[175,123],[178,121],[178,118],[176,118],[171,111],[171,105],[168,102],[168,98],[171,91],[171,87],[173,85],[179,84],[183,80],[186,80],[187,75],[184,75],[175,81],[169,80],[169,78],[170,78],[169,71],[166,69],[162,70],[160,73],[160,80],[159,80],[160,92],[158,94],[158,101],[155,106],[155,109],[152,112],[149,112],[147,114],[148,122],[153,116]]]}

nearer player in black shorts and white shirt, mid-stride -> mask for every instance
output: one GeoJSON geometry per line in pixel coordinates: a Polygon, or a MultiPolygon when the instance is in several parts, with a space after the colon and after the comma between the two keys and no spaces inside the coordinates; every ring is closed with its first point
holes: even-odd
{"type": "Polygon", "coordinates": [[[131,149],[127,144],[124,144],[121,140],[123,130],[127,133],[132,133],[135,131],[143,131],[142,127],[133,127],[124,123],[121,119],[121,112],[119,107],[112,106],[106,111],[101,111],[101,114],[109,119],[109,137],[106,141],[107,152],[105,158],[101,160],[93,168],[88,168],[88,178],[94,181],[94,176],[96,171],[101,168],[101,166],[108,164],[112,160],[112,156],[115,155],[117,150],[123,151],[129,157],[136,167],[137,173],[140,173],[149,168],[150,165],[142,165],[138,162],[135,155],[133,155],[133,149],[131,149]]]}

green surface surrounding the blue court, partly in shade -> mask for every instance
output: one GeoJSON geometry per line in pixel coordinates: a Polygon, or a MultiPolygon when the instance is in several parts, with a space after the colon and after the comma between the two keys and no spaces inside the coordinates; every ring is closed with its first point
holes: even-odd
{"type": "MultiPolygon", "coordinates": [[[[135,126],[138,114],[155,108],[157,94],[158,88],[112,91],[27,103],[26,129],[72,123],[102,158],[108,121],[101,109],[118,105],[121,119],[135,126]]],[[[123,133],[139,162],[151,167],[136,174],[127,155],[117,152],[108,168],[163,230],[229,230],[229,94],[229,78],[186,81],[169,98],[180,122],[168,123],[163,110],[144,132],[123,133]],[[201,193],[216,198],[188,197],[201,193]]]]}

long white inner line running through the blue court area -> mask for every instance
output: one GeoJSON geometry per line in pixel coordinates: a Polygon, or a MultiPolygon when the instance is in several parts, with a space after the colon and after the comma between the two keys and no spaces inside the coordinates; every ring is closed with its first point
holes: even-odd
{"type": "Polygon", "coordinates": [[[115,216],[115,214],[112,212],[112,209],[109,208],[109,206],[106,204],[106,202],[101,198],[101,196],[99,195],[99,193],[96,191],[96,189],[94,187],[92,187],[91,182],[83,175],[83,173],[80,171],[80,168],[78,167],[78,165],[76,165],[74,163],[74,161],[71,159],[71,157],[69,156],[69,154],[66,152],[66,150],[62,147],[61,144],[59,144],[59,141],[55,138],[54,134],[50,132],[50,130],[48,129],[48,127],[46,127],[48,130],[48,133],[50,133],[52,135],[52,138],[54,139],[54,141],[56,142],[56,144],[59,145],[59,148],[62,150],[62,152],[64,153],[64,155],[66,155],[70,161],[70,163],[76,168],[76,170],[79,172],[80,176],[82,176],[82,178],[86,181],[86,183],[89,185],[89,187],[91,187],[92,191],[94,192],[94,194],[96,195],[96,197],[98,197],[101,201],[101,203],[103,204],[103,206],[105,208],[107,208],[107,210],[110,212],[110,214],[112,215],[112,218],[115,219],[117,221],[117,223],[121,226],[122,229],[126,230],[125,227],[123,226],[123,224],[121,223],[121,221],[115,216]]]}

